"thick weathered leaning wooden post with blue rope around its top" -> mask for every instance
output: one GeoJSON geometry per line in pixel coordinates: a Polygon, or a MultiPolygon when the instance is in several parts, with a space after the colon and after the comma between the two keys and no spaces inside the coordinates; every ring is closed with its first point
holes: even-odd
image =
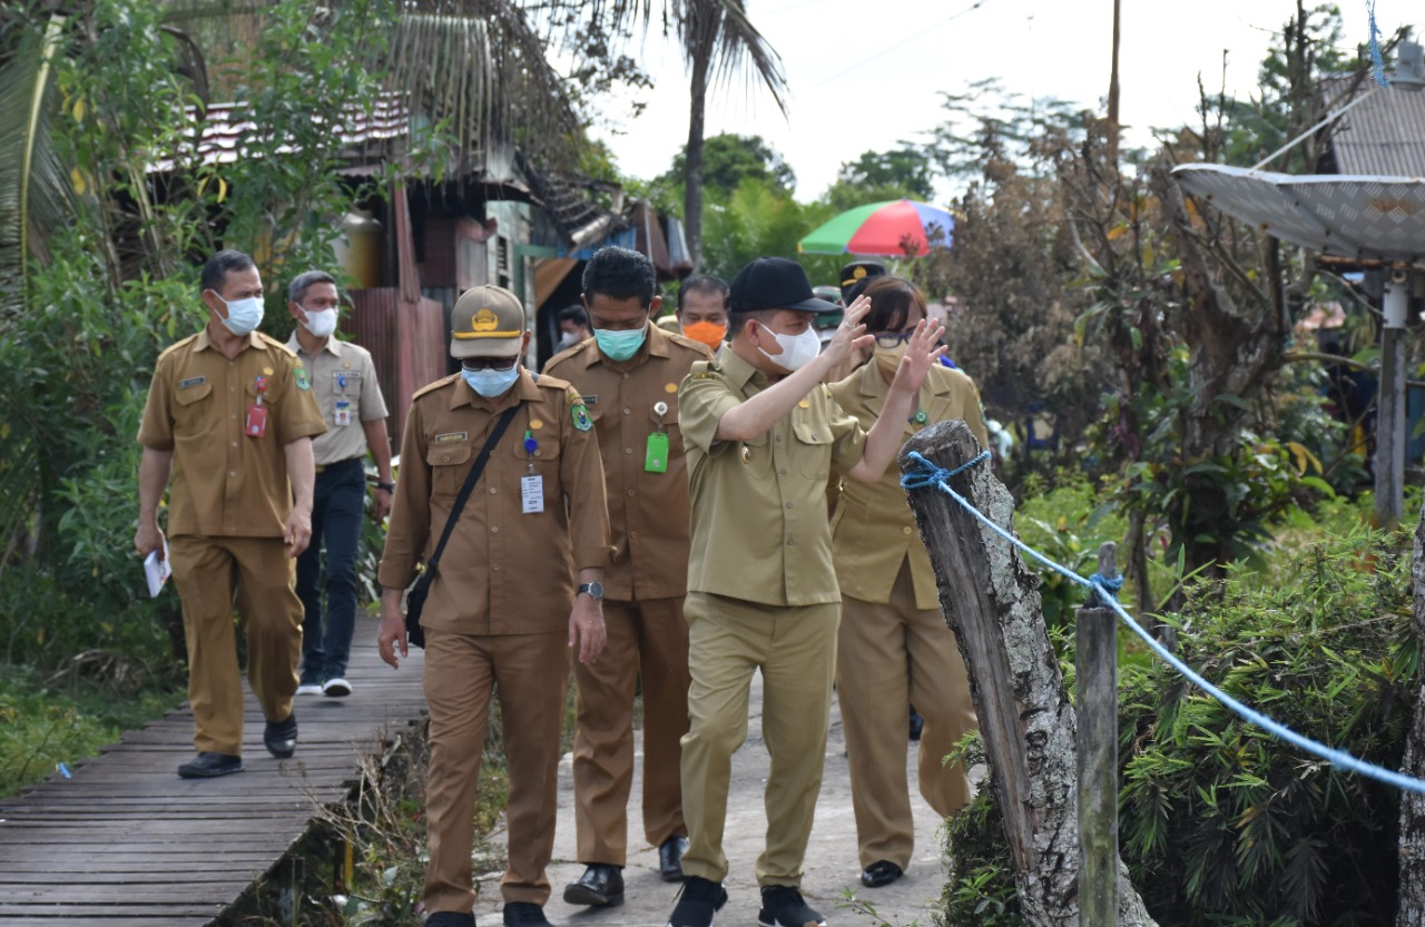
{"type": "MultiPolygon", "coordinates": [[[[963,421],[939,421],[901,450],[901,468],[919,451],[953,470],[979,446],[963,421]]],[[[1015,500],[986,463],[950,481],[992,523],[1010,525],[1015,500]]],[[[1005,816],[1015,887],[1032,927],[1079,924],[1079,823],[1074,712],[1039,607],[1039,577],[1015,547],[939,488],[909,491],[931,551],[940,609],[970,676],[989,756],[990,789],[1005,816]]],[[[1154,924],[1114,861],[1117,923],[1154,924]]]]}

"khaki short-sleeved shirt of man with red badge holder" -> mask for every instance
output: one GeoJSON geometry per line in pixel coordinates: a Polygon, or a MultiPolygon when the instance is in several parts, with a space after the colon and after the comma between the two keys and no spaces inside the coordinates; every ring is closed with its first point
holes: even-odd
{"type": "Polygon", "coordinates": [[[168,534],[282,537],[292,514],[285,446],[325,430],[302,362],[252,332],[228,360],[208,329],[158,356],[138,443],[172,451],[168,534]],[[265,377],[266,430],[244,433],[265,377]]]}

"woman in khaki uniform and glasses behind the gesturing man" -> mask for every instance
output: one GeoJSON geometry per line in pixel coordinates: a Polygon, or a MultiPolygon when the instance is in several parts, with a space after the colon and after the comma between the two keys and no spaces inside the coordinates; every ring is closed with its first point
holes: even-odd
{"type": "MultiPolygon", "coordinates": [[[[885,406],[906,339],[925,318],[925,298],[915,283],[895,276],[878,279],[865,295],[875,349],[831,393],[869,427],[885,406]]],[[[905,437],[946,419],[963,419],[980,444],[989,443],[975,383],[959,370],[936,366],[921,386],[905,437]]],[[[895,468],[878,483],[845,481],[832,520],[832,557],[842,595],[836,693],[861,881],[874,889],[899,879],[913,849],[905,776],[909,705],[925,718],[921,795],[946,817],[970,795],[965,769],[945,766],[943,759],[978,722],[965,664],[940,615],[931,558],[895,468]]]]}

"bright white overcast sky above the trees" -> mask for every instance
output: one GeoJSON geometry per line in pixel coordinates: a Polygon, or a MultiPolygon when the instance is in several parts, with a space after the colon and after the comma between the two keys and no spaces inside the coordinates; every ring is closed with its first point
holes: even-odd
{"type": "MultiPolygon", "coordinates": [[[[1308,9],[1317,0],[1308,1],[1308,9]]],[[[1344,0],[1342,44],[1368,36],[1364,0],[1344,0]]],[[[1102,111],[1109,91],[1113,0],[748,0],[748,16],[781,54],[791,87],[788,118],[742,80],[710,94],[707,135],[761,135],[797,172],[797,198],[815,199],[844,161],[915,141],[942,121],[940,91],[999,77],[1026,97],[1053,95],[1102,111]]],[[[1257,68],[1292,0],[1121,0],[1121,120],[1130,142],[1150,127],[1194,121],[1197,77],[1210,93],[1257,87],[1257,68]]],[[[1419,0],[1377,0],[1382,36],[1419,0]]],[[[665,171],[687,141],[688,88],[671,40],[641,50],[657,87],[606,100],[606,140],[624,174],[665,171]],[[637,118],[628,103],[647,101],[637,118]]]]}

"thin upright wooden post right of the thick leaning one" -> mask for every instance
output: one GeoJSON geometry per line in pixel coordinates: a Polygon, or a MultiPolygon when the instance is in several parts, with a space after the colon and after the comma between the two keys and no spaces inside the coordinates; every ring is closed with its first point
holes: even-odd
{"type": "MultiPolygon", "coordinates": [[[[1117,545],[1099,548],[1099,575],[1119,575],[1117,545]]],[[[1117,615],[1094,591],[1074,618],[1079,721],[1079,924],[1114,923],[1119,874],[1117,615]]]]}

